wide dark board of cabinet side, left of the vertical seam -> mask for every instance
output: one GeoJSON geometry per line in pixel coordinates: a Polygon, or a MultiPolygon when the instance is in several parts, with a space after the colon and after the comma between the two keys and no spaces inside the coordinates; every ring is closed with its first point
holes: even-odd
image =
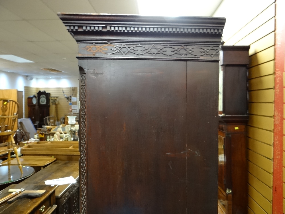
{"type": "Polygon", "coordinates": [[[80,65],[87,81],[87,213],[186,214],[186,61],[80,65]]]}

